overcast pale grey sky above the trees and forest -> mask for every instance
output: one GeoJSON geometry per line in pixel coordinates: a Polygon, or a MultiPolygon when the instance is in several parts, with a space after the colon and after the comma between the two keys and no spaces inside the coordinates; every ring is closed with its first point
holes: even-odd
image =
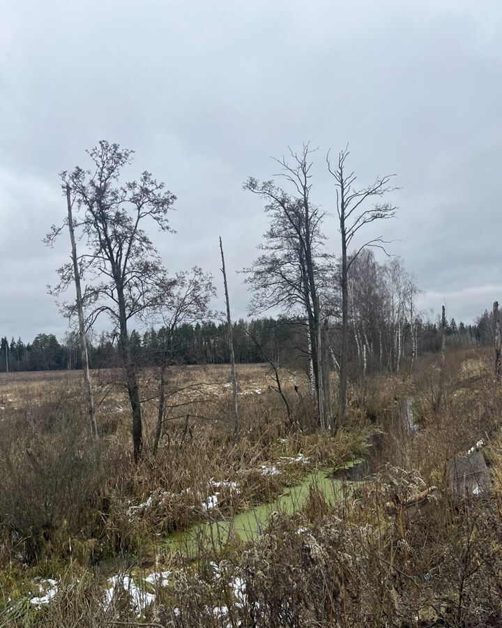
{"type": "Polygon", "coordinates": [[[63,335],[45,286],[68,247],[41,240],[66,211],[58,172],[100,139],[178,195],[167,267],[218,283],[218,235],[241,269],[266,228],[245,177],[310,140],[331,211],[324,154],[350,142],[361,184],[397,174],[385,234],[421,306],[471,320],[502,300],[501,70],[499,0],[0,0],[0,335],[63,335]]]}

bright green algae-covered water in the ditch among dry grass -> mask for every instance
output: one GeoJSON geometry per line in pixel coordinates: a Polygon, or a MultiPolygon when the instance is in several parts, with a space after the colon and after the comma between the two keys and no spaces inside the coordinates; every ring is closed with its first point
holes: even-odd
{"type": "Polygon", "coordinates": [[[307,474],[301,484],[285,489],[273,502],[259,504],[227,520],[213,519],[193,525],[183,532],[169,534],[165,545],[185,555],[196,556],[204,548],[221,552],[227,546],[251,541],[266,528],[271,513],[280,512],[291,516],[300,511],[307,502],[311,487],[317,488],[331,505],[340,502],[344,496],[341,481],[333,479],[332,475],[329,477],[327,470],[317,470],[307,474]]]}

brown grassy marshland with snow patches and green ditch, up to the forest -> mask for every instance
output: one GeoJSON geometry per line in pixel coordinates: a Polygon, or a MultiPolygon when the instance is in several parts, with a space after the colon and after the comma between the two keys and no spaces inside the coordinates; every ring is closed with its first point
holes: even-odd
{"type": "Polygon", "coordinates": [[[334,438],[301,371],[280,372],[291,425],[270,369],[238,365],[235,439],[229,368],[172,367],[156,456],[146,370],[138,465],[121,371],[93,373],[98,443],[80,373],[1,374],[0,625],[501,625],[491,362],[450,352],[440,407],[432,355],[359,380],[334,438]],[[446,463],[480,440],[491,491],[455,498],[446,463]]]}

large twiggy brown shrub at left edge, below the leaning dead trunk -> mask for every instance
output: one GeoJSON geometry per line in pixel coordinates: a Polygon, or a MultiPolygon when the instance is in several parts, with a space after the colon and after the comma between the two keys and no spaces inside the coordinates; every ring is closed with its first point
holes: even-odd
{"type": "Polygon", "coordinates": [[[2,424],[0,522],[23,560],[69,552],[71,539],[85,541],[96,527],[107,465],[80,408],[56,399],[33,409],[22,428],[19,417],[2,424]]]}

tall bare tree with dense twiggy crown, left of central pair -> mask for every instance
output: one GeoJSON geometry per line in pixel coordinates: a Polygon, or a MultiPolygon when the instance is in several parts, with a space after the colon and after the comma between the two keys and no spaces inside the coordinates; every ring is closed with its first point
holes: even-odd
{"type": "MultiPolygon", "coordinates": [[[[265,242],[259,248],[264,251],[250,269],[248,283],[254,288],[252,312],[268,308],[296,310],[298,320],[307,317],[308,339],[311,348],[312,370],[317,394],[319,425],[322,429],[332,423],[330,405],[325,403],[326,393],[322,376],[322,318],[319,286],[326,279],[324,262],[327,255],[322,251],[324,235],[321,223],[325,212],[312,204],[312,150],[308,144],[296,153],[291,151],[291,164],[282,157],[276,160],[282,167],[278,176],[284,177],[293,193],[287,193],[273,181],[259,184],[250,177],[244,188],[264,198],[266,211],[271,216],[265,242]]],[[[327,283],[327,281],[326,281],[327,283]]]]}

